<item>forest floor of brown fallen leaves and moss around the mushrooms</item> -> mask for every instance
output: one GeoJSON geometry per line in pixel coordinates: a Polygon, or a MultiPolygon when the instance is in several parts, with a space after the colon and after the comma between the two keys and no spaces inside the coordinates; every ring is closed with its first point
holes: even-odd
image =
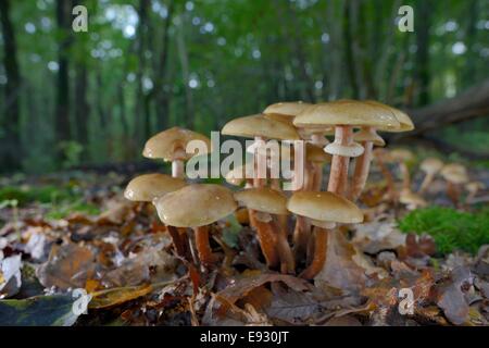
{"type": "Polygon", "coordinates": [[[123,198],[129,178],[2,179],[0,325],[488,325],[489,210],[450,208],[441,181],[414,212],[371,186],[367,221],[330,234],[308,282],[267,270],[236,216],[212,228],[214,268],[179,259],[152,207],[123,198]]]}

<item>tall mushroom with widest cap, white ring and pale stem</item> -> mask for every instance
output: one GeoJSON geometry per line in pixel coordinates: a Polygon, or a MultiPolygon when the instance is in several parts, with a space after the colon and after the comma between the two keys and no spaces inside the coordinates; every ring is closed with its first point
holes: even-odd
{"type": "Polygon", "coordinates": [[[328,191],[344,196],[350,158],[364,152],[364,148],[353,141],[353,127],[397,127],[399,121],[388,110],[355,100],[337,100],[308,108],[293,120],[293,124],[311,128],[335,127],[335,141],[324,148],[333,154],[328,191]]]}

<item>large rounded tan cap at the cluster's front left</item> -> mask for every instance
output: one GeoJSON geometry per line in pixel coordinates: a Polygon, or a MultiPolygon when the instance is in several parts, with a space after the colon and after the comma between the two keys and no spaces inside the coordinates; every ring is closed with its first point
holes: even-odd
{"type": "Polygon", "coordinates": [[[198,227],[231,214],[238,206],[233,191],[214,184],[192,184],[154,201],[160,220],[175,227],[198,227]]]}

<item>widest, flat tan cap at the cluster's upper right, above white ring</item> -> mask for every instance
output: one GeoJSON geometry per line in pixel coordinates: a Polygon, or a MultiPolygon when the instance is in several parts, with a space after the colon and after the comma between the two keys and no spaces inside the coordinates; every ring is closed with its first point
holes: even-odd
{"type": "Polygon", "coordinates": [[[399,121],[389,109],[348,99],[308,108],[293,120],[293,124],[298,127],[335,125],[373,126],[380,129],[399,127],[399,121]]]}

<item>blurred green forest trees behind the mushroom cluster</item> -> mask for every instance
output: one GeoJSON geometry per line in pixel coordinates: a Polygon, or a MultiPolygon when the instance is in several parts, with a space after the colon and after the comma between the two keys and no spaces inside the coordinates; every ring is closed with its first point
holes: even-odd
{"type": "Polygon", "coordinates": [[[137,161],[173,125],[338,98],[437,115],[417,139],[489,153],[485,0],[0,0],[0,171],[137,161]],[[402,4],[414,33],[398,30],[402,4]],[[422,109],[453,97],[455,117],[422,109]]]}

